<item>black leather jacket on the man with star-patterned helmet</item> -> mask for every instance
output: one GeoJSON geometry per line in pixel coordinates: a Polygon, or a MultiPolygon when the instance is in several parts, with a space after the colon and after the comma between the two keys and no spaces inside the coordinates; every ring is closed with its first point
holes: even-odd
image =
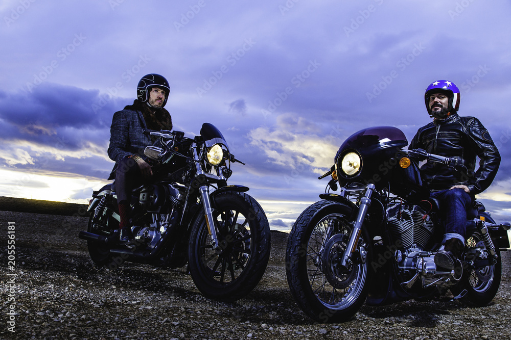
{"type": "Polygon", "coordinates": [[[500,165],[500,154],[488,130],[474,117],[458,114],[433,122],[417,130],[409,149],[425,149],[429,153],[461,159],[468,171],[459,171],[444,164],[426,162],[421,177],[431,191],[466,185],[470,194],[483,192],[491,184],[500,165]],[[476,167],[479,157],[479,168],[476,167]]]}

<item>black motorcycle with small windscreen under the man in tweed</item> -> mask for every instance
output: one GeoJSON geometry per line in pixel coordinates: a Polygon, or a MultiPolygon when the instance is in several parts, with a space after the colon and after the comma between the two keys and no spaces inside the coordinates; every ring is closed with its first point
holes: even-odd
{"type": "Polygon", "coordinates": [[[124,261],[188,270],[207,298],[231,302],[261,280],[270,254],[268,220],[249,188],[227,185],[231,163],[241,163],[212,124],[200,135],[145,130],[156,142],[144,154],[150,181],[131,196],[134,249],[119,242],[115,181],[92,194],[87,241],[92,261],[115,269],[124,261]]]}

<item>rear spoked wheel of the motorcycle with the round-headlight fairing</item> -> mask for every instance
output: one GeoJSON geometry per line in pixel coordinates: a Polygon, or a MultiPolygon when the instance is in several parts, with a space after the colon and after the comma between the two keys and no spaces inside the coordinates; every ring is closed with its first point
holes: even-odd
{"type": "Polygon", "coordinates": [[[467,294],[463,297],[463,301],[475,306],[485,306],[489,304],[500,286],[502,276],[502,259],[499,249],[497,252],[497,261],[493,265],[477,267],[478,260],[486,260],[490,258],[490,254],[486,251],[482,236],[476,231],[468,238],[466,242],[467,256],[471,256],[476,263],[476,268],[463,268],[463,276],[458,285],[456,285],[453,293],[459,293],[467,290],[467,294]],[[477,250],[477,251],[476,251],[477,250]]]}

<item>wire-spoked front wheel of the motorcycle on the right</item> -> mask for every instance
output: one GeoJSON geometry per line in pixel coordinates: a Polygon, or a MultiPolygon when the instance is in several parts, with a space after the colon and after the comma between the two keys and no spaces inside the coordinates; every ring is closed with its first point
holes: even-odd
{"type": "Polygon", "coordinates": [[[301,213],[289,235],[289,288],[300,308],[320,323],[349,320],[367,297],[373,255],[366,232],[360,234],[349,264],[340,264],[353,229],[353,213],[344,204],[316,202],[301,213]]]}

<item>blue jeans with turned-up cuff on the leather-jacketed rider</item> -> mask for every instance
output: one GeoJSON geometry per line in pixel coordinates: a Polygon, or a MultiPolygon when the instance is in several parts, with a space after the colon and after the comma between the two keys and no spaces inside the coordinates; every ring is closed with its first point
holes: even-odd
{"type": "Polygon", "coordinates": [[[467,209],[472,204],[473,196],[459,188],[432,192],[430,196],[440,203],[440,221],[445,228],[442,244],[450,239],[458,239],[464,244],[467,209]]]}

